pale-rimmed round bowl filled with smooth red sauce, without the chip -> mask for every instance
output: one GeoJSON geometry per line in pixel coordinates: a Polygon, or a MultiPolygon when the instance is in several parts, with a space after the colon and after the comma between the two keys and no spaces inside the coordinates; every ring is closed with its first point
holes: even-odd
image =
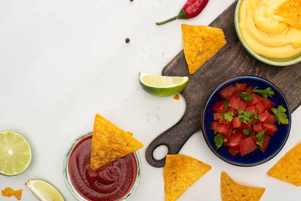
{"type": "Polygon", "coordinates": [[[92,133],[77,137],[69,146],[63,163],[65,183],[79,201],[128,200],[138,187],[141,161],[137,151],[92,171],[92,133]]]}

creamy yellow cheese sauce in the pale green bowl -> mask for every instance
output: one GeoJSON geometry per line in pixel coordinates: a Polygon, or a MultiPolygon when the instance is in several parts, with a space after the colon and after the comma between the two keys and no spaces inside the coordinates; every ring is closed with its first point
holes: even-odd
{"type": "Polygon", "coordinates": [[[285,0],[244,0],[239,27],[247,45],[257,54],[290,59],[301,53],[301,31],[274,15],[285,0]]]}

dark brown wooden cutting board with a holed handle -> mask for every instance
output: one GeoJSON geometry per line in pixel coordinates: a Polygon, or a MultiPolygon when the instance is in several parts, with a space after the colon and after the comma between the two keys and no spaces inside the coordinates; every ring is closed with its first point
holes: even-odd
{"type": "MultiPolygon", "coordinates": [[[[291,112],[301,103],[301,63],[276,67],[264,64],[252,57],[239,42],[234,13],[237,1],[225,10],[209,26],[224,31],[227,44],[196,73],[190,75],[183,50],[163,69],[162,75],[189,76],[190,81],[181,93],[186,100],[186,112],[173,127],[159,135],[146,149],[146,160],[154,167],[164,167],[165,158],[156,160],[154,150],[165,145],[168,154],[178,154],[187,140],[201,130],[201,116],[207,97],[218,85],[231,77],[253,75],[275,84],[288,100],[291,112]]],[[[182,41],[179,41],[179,43],[182,41]]]]}

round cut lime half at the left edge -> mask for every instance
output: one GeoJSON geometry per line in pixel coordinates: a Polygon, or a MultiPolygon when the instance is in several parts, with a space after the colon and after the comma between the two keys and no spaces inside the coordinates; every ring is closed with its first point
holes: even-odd
{"type": "Polygon", "coordinates": [[[27,140],[14,131],[0,132],[0,174],[15,176],[23,173],[32,161],[27,140]]]}

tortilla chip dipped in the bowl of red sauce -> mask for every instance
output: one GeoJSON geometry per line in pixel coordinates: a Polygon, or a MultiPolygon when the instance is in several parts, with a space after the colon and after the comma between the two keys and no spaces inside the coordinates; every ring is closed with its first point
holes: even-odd
{"type": "Polygon", "coordinates": [[[143,144],[99,114],[95,116],[90,155],[90,168],[96,170],[118,158],[122,158],[143,144]]]}

